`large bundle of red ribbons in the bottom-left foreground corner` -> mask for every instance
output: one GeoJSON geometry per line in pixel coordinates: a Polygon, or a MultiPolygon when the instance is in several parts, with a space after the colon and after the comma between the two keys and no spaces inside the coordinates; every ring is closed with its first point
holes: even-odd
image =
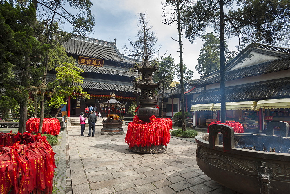
{"type": "Polygon", "coordinates": [[[0,133],[0,193],[52,193],[54,154],[46,136],[0,133]]]}

